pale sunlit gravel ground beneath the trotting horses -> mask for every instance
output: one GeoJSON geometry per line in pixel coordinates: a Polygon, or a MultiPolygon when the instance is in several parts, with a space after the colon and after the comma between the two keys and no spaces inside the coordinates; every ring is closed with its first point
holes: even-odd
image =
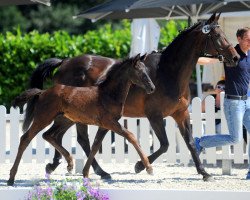
{"type": "MultiPolygon", "coordinates": [[[[6,180],[12,164],[0,165],[0,188],[6,188],[6,180]]],[[[245,180],[246,166],[244,168],[234,167],[232,175],[221,175],[219,167],[206,167],[208,173],[213,175],[214,181],[203,182],[202,176],[197,175],[195,167],[184,167],[171,164],[153,164],[154,175],[148,175],[145,171],[140,174],[134,173],[132,164],[106,164],[101,163],[103,169],[111,173],[112,179],[100,180],[93,174],[91,169],[90,178],[92,183],[100,185],[100,188],[127,188],[127,189],[185,189],[185,190],[227,190],[250,192],[250,181],[245,180]]],[[[45,164],[21,163],[16,175],[16,187],[30,187],[45,179],[45,164]]],[[[51,179],[64,179],[66,164],[61,164],[51,175],[51,179]]],[[[67,176],[80,178],[79,174],[67,176]]]]}

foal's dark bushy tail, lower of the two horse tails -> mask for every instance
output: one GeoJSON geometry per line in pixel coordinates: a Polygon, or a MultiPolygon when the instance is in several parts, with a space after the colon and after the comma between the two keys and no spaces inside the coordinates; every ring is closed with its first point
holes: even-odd
{"type": "Polygon", "coordinates": [[[34,88],[29,89],[17,96],[13,102],[13,107],[23,107],[25,103],[28,102],[28,106],[26,108],[24,122],[23,122],[23,131],[26,132],[33,120],[34,117],[34,108],[36,101],[38,100],[39,95],[43,92],[43,90],[34,88]]]}

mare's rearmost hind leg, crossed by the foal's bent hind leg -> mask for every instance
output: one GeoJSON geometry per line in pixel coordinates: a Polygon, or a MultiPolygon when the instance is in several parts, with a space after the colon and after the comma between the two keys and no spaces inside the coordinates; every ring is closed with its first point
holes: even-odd
{"type": "MultiPolygon", "coordinates": [[[[44,134],[50,135],[54,137],[58,145],[62,146],[62,138],[66,131],[73,125],[74,123],[64,117],[63,115],[59,115],[55,118],[53,125],[49,130],[47,130],[44,134]]],[[[53,158],[53,163],[48,163],[46,165],[46,173],[51,174],[60,164],[60,160],[62,155],[55,149],[55,154],[53,158]]],[[[73,164],[73,161],[70,161],[68,165],[73,164]]],[[[73,168],[73,166],[72,166],[73,168]]]]}

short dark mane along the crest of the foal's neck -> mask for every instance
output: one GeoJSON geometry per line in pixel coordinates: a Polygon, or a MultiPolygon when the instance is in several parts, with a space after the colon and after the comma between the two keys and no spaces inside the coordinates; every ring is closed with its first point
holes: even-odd
{"type": "MultiPolygon", "coordinates": [[[[133,58],[126,58],[123,61],[120,61],[118,63],[113,64],[106,73],[102,74],[98,80],[96,81],[96,85],[98,86],[103,86],[105,85],[107,82],[109,82],[114,74],[119,70],[124,70],[123,68],[127,67],[127,65],[124,65],[124,63],[126,62],[132,62],[133,58]]],[[[119,79],[119,77],[117,77],[117,79],[119,79]]]]}

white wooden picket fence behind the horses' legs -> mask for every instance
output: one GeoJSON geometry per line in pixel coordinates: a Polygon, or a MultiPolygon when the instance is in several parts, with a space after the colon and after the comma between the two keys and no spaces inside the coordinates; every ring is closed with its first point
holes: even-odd
{"type": "MultiPolygon", "coordinates": [[[[223,99],[223,94],[222,94],[223,99]]],[[[206,112],[201,112],[201,99],[194,98],[191,103],[191,123],[194,136],[202,134],[215,134],[215,119],[221,118],[221,132],[228,133],[227,125],[223,112],[215,113],[215,100],[212,96],[206,98],[206,112]]],[[[222,105],[223,107],[223,102],[222,105]]],[[[223,110],[223,108],[222,108],[223,110]]],[[[45,111],[46,112],[46,111],[45,111]]],[[[11,108],[10,113],[6,113],[6,108],[0,106],[0,164],[10,162],[13,163],[16,157],[19,138],[22,135],[23,114],[20,114],[19,109],[11,108]]],[[[168,163],[183,163],[188,165],[192,161],[190,153],[182,139],[178,127],[171,117],[165,118],[165,128],[170,143],[167,153],[159,157],[156,162],[168,163]]],[[[149,122],[146,118],[122,118],[121,124],[126,123],[128,129],[137,134],[137,138],[142,146],[142,149],[147,154],[151,154],[159,148],[159,141],[153,133],[149,122]],[[153,133],[153,134],[152,134],[153,133]]],[[[92,143],[97,131],[96,126],[89,126],[89,138],[92,143]]],[[[44,132],[44,131],[42,131],[44,132]]],[[[35,137],[31,144],[26,149],[23,162],[31,163],[33,159],[37,163],[44,163],[48,159],[52,160],[54,156],[54,148],[42,139],[42,132],[35,137]]],[[[80,145],[76,141],[75,127],[71,127],[63,138],[63,146],[71,152],[76,160],[86,158],[80,145]]],[[[217,160],[225,161],[224,173],[230,173],[230,163],[243,164],[244,160],[248,159],[246,145],[241,141],[232,147],[224,146],[222,149],[216,148],[206,149],[200,155],[200,158],[208,164],[216,165],[217,160]]],[[[115,134],[115,142],[112,142],[111,134],[108,133],[102,144],[102,152],[98,153],[97,159],[102,159],[103,162],[109,163],[135,163],[139,156],[131,144],[115,134]]],[[[82,166],[81,166],[82,167],[82,166]]],[[[82,168],[81,168],[82,169],[82,168]]]]}

